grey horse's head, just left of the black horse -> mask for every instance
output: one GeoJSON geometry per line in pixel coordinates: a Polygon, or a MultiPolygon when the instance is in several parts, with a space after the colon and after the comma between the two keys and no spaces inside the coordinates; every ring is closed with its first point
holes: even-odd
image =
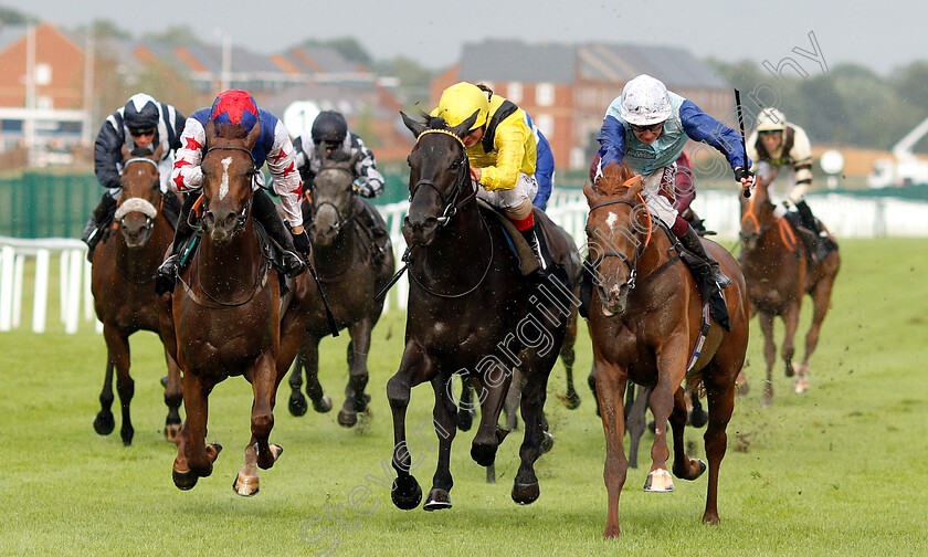
{"type": "Polygon", "coordinates": [[[361,153],[351,158],[339,158],[340,151],[326,155],[325,148],[317,148],[323,166],[316,174],[309,196],[313,203],[313,223],[309,237],[314,244],[329,245],[341,228],[354,218],[355,211],[355,165],[361,153]]]}

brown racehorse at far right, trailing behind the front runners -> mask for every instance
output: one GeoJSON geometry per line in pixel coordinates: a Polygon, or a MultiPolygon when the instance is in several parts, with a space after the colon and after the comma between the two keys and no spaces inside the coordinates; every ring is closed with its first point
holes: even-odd
{"type": "MultiPolygon", "coordinates": [[[[834,238],[831,240],[834,241],[834,238]]],[[[819,332],[829,312],[834,278],[841,267],[841,255],[834,250],[822,261],[813,263],[808,253],[808,248],[787,219],[773,216],[773,203],[764,185],[758,185],[750,198],[741,198],[739,259],[748,283],[751,316],[758,314],[763,332],[763,357],[767,360],[763,406],[773,403],[772,375],[777,359],[774,316],[783,319],[782,355],[787,377],[795,375],[795,392],[802,393],[809,388],[809,358],[819,344],[819,332]],[[805,336],[805,357],[802,364],[793,366],[793,337],[799,327],[803,294],[812,296],[814,304],[812,326],[805,336]]]]}

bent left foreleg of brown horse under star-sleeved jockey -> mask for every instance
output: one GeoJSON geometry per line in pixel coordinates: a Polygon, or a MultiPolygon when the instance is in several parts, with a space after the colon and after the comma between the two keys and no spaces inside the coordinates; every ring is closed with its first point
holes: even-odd
{"type": "Polygon", "coordinates": [[[180,490],[190,490],[197,480],[212,474],[222,446],[218,443],[205,444],[207,414],[209,412],[209,391],[211,386],[203,383],[196,374],[183,372],[183,410],[187,420],[177,435],[177,459],[173,463],[173,482],[180,490]]]}

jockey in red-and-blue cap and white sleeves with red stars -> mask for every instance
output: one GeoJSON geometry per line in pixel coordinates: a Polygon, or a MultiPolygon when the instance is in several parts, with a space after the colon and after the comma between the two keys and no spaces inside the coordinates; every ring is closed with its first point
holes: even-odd
{"type": "MultiPolygon", "coordinates": [[[[308,258],[312,250],[309,237],[303,230],[303,213],[299,210],[299,174],[294,162],[294,149],[284,124],[276,116],[259,108],[254,98],[245,91],[225,91],[215,97],[212,107],[200,108],[187,118],[181,134],[183,146],[177,151],[177,161],[171,171],[171,185],[181,192],[196,192],[202,188],[203,175],[200,161],[205,154],[209,138],[205,134],[207,124],[233,124],[246,130],[261,126],[261,136],[252,149],[255,168],[261,169],[264,162],[274,179],[274,190],[281,196],[286,220],[291,231],[287,233],[284,221],[277,213],[277,208],[271,197],[264,191],[264,175],[255,174],[252,210],[255,219],[261,222],[267,234],[284,251],[284,272],[291,276],[305,270],[299,253],[308,258]],[[291,234],[293,238],[291,238],[291,234]]],[[[198,196],[188,195],[178,218],[171,255],[165,260],[158,272],[169,284],[173,282],[180,266],[180,249],[193,233],[188,217],[198,196]]]]}

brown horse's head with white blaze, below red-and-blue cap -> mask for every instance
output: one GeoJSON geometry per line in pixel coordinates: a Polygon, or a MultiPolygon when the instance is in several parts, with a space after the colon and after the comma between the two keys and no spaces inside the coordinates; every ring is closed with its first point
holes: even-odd
{"type": "Polygon", "coordinates": [[[261,126],[251,130],[236,124],[207,124],[203,172],[203,225],[213,242],[230,240],[244,230],[252,202],[252,183],[257,174],[252,149],[261,126]]]}

